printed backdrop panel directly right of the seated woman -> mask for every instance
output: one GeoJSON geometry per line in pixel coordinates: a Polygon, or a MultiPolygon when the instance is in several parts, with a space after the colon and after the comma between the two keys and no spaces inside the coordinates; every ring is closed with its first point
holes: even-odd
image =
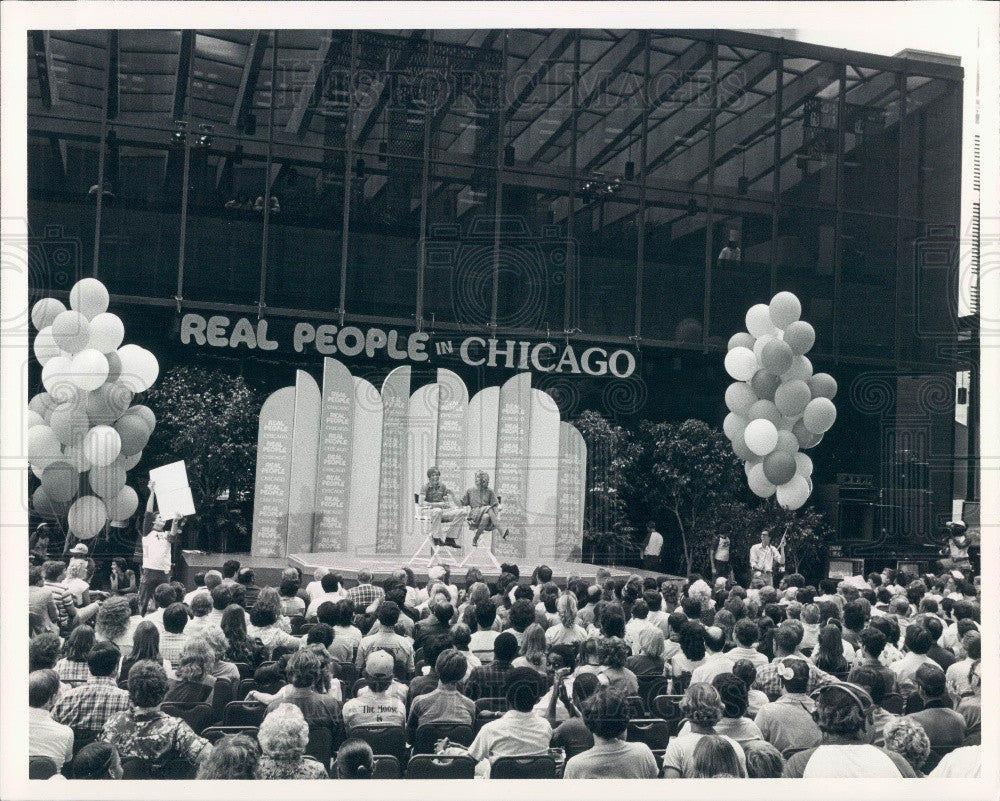
{"type": "Polygon", "coordinates": [[[510,537],[493,532],[497,557],[523,559],[526,554],[528,496],[528,444],[531,436],[531,374],[518,373],[500,387],[500,421],[497,426],[497,462],[493,479],[503,503],[503,522],[510,537]]]}

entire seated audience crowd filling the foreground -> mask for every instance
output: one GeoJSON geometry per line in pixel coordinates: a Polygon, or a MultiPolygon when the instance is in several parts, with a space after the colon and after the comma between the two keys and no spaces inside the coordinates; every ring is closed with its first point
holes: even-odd
{"type": "Polygon", "coordinates": [[[87,560],[34,565],[31,776],[979,775],[968,571],[743,587],[502,569],[268,586],[231,559],[142,610],[124,566],[100,592],[87,560]]]}

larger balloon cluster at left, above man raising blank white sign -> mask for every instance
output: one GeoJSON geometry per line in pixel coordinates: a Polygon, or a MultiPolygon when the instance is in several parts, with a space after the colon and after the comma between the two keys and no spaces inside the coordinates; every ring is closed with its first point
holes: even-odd
{"type": "Polygon", "coordinates": [[[42,482],[31,504],[43,517],[66,517],[81,540],[135,513],[139,496],[125,474],[156,425],[132,399],[160,366],[145,348],[122,345],[125,326],[108,301],[104,284],[84,278],[69,293],[70,309],[55,298],[31,309],[45,387],[28,402],[28,462],[42,482]]]}

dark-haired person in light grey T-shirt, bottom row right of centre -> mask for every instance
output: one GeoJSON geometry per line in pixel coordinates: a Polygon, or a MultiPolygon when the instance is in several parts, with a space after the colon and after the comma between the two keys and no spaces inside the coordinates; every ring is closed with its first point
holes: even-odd
{"type": "Polygon", "coordinates": [[[625,740],[629,721],[625,696],[602,687],[583,702],[583,721],[594,735],[594,745],[566,762],[563,778],[656,778],[656,759],[649,746],[625,740]]]}

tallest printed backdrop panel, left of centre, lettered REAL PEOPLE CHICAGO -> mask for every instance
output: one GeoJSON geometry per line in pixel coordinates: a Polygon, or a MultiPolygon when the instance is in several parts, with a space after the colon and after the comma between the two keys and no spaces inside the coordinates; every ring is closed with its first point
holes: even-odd
{"type": "Polygon", "coordinates": [[[354,379],[341,362],[324,359],[314,551],[343,551],[347,547],[353,435],[354,379]]]}

